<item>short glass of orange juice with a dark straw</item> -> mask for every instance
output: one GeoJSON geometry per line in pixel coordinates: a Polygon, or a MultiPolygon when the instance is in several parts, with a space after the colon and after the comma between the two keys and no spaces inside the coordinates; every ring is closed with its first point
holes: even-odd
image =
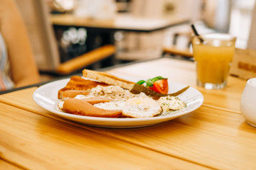
{"type": "Polygon", "coordinates": [[[230,64],[235,52],[235,40],[234,36],[222,33],[193,37],[193,57],[198,86],[205,89],[222,89],[227,85],[230,64]]]}

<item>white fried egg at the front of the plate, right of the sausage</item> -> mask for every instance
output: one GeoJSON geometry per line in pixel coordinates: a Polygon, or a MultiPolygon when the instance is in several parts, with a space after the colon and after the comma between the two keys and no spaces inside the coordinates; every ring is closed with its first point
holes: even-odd
{"type": "Polygon", "coordinates": [[[125,102],[122,114],[132,118],[151,118],[159,115],[161,111],[161,106],[154,99],[134,97],[125,102]]]}

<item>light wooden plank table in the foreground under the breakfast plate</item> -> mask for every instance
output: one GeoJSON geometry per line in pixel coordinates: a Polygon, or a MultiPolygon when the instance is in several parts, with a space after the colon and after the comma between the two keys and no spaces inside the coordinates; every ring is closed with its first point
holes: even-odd
{"type": "Polygon", "coordinates": [[[0,169],[256,169],[256,128],[239,103],[246,81],[196,86],[193,62],[161,58],[108,70],[119,77],[162,75],[201,91],[192,113],[144,128],[97,128],[59,118],[32,98],[37,87],[0,96],[0,169]]]}

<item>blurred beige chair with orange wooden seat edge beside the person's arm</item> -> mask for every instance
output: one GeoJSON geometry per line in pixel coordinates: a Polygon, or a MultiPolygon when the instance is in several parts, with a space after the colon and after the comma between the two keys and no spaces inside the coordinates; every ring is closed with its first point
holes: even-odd
{"type": "Polygon", "coordinates": [[[53,26],[50,23],[48,6],[45,0],[16,0],[21,16],[26,24],[38,69],[43,72],[70,74],[95,62],[114,55],[114,45],[103,47],[60,63],[58,45],[53,26]]]}

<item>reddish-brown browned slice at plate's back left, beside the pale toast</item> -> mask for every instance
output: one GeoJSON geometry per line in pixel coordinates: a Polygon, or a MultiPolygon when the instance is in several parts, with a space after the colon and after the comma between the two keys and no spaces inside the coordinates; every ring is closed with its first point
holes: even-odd
{"type": "Polygon", "coordinates": [[[108,84],[98,82],[98,81],[92,81],[89,79],[82,79],[82,77],[79,76],[73,76],[70,78],[70,81],[68,81],[68,84],[63,87],[63,89],[60,89],[58,91],[58,98],[63,98],[62,94],[63,91],[68,90],[76,90],[76,91],[86,91],[88,89],[92,89],[96,87],[97,85],[101,86],[108,86],[108,84]]]}

